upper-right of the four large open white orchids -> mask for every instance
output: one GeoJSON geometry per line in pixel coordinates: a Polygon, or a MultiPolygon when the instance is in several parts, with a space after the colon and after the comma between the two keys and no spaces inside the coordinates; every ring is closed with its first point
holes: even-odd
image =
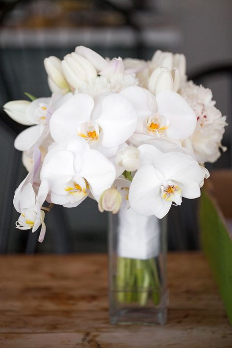
{"type": "MultiPolygon", "coordinates": [[[[170,140],[182,140],[193,134],[196,115],[178,93],[162,91],[155,97],[148,90],[132,86],[120,92],[137,110],[136,133],[170,140]]],[[[146,140],[149,138],[146,137],[146,140]]]]}

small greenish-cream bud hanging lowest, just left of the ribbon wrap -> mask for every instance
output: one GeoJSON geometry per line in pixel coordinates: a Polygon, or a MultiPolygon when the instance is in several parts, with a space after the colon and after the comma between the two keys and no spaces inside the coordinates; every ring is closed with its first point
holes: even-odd
{"type": "Polygon", "coordinates": [[[122,198],[116,188],[104,191],[99,199],[98,209],[103,211],[111,211],[113,214],[118,213],[121,206],[122,198]]]}

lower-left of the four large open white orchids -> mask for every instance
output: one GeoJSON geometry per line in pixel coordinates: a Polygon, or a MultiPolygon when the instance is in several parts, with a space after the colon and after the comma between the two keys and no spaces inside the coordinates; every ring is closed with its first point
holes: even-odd
{"type": "Polygon", "coordinates": [[[50,200],[55,204],[75,207],[89,195],[98,200],[115,180],[114,165],[88,143],[71,137],[66,147],[53,146],[48,151],[41,170],[50,200]]]}

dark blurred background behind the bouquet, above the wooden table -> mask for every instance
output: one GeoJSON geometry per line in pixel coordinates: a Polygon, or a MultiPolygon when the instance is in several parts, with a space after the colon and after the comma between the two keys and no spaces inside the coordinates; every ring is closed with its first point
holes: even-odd
{"type": "MultiPolygon", "coordinates": [[[[14,139],[23,126],[2,105],[23,93],[50,96],[43,60],[59,58],[78,45],[107,57],[150,59],[155,50],[184,53],[187,75],[212,89],[217,108],[228,115],[223,153],[215,165],[232,166],[231,0],[0,0],[0,253],[102,252],[107,250],[107,214],[86,199],[73,209],[55,206],[38,233],[15,228],[16,187],[26,175],[14,139]]],[[[197,200],[172,207],[171,250],[198,249],[197,200]]]]}

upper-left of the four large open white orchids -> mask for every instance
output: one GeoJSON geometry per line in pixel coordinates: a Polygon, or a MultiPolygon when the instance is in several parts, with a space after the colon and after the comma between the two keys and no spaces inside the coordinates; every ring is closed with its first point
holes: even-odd
{"type": "Polygon", "coordinates": [[[136,110],[120,93],[106,93],[96,99],[79,93],[53,113],[50,132],[57,143],[75,135],[92,147],[99,142],[103,147],[114,148],[134,133],[136,123],[136,110]]]}

